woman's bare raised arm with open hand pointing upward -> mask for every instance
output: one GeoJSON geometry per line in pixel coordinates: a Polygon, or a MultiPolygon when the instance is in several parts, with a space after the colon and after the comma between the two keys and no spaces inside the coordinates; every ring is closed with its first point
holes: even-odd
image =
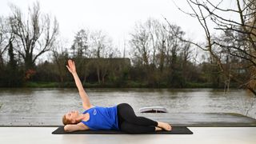
{"type": "Polygon", "coordinates": [[[70,73],[74,77],[74,82],[75,82],[76,86],[78,87],[79,95],[82,98],[82,106],[86,110],[90,109],[90,107],[92,107],[92,105],[90,104],[90,99],[89,99],[88,95],[86,94],[86,91],[82,87],[82,83],[81,83],[81,81],[78,77],[78,74],[76,72],[76,69],[75,69],[74,61],[69,59],[68,65],[69,66],[66,66],[66,68],[70,71],[70,73]]]}

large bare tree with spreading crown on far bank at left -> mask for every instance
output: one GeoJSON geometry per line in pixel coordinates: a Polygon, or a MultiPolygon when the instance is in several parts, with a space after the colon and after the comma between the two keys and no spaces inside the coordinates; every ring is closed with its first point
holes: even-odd
{"type": "Polygon", "coordinates": [[[11,32],[14,34],[15,50],[25,62],[26,70],[34,66],[37,58],[50,51],[58,35],[58,22],[52,22],[49,14],[42,14],[38,2],[28,8],[28,18],[14,5],[10,6],[11,32]]]}

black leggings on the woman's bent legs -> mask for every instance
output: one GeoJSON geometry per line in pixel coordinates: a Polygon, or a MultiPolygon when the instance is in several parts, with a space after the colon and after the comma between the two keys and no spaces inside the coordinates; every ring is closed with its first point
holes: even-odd
{"type": "Polygon", "coordinates": [[[118,126],[120,130],[126,133],[141,134],[154,131],[158,122],[136,116],[128,103],[121,103],[118,104],[118,126]]]}

